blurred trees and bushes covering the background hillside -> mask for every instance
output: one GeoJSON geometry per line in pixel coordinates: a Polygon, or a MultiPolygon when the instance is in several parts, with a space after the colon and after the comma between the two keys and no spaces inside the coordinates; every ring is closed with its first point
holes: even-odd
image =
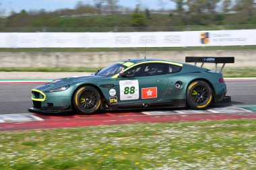
{"type": "MultiPolygon", "coordinates": [[[[175,9],[164,10],[164,1],[158,1],[162,9],[152,11],[141,8],[138,4],[135,9],[129,9],[119,5],[119,0],[94,0],[93,4],[78,1],[74,9],[59,9],[56,11],[22,10],[12,13],[9,17],[1,19],[3,27],[77,27],[77,26],[187,26],[187,25],[222,25],[222,24],[256,24],[254,0],[170,0],[175,4],[175,9]],[[164,13],[163,13],[164,12],[164,13]],[[129,19],[121,16],[126,15],[129,19]],[[86,18],[100,15],[98,23],[89,24],[86,18]],[[111,21],[104,22],[104,16],[110,17],[111,21]],[[160,16],[162,15],[162,16],[160,16]],[[68,19],[72,16],[73,19],[68,19]],[[85,17],[86,16],[86,17],[85,17]],[[59,19],[67,17],[67,19],[59,19]],[[75,21],[75,17],[79,18],[75,21]],[[123,21],[121,21],[123,19],[123,21]],[[53,22],[53,24],[51,24],[53,22]],[[56,22],[56,23],[55,23],[56,22]],[[76,22],[84,22],[77,24],[76,22]],[[129,24],[125,23],[129,22],[129,24]]],[[[106,20],[105,19],[105,20],[106,20]]],[[[92,22],[92,21],[90,21],[92,22]]],[[[97,21],[95,21],[97,22],[97,21]]]]}

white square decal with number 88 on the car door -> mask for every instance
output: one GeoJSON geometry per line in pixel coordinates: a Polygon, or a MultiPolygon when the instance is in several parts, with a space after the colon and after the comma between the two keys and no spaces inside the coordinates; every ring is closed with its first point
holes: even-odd
{"type": "Polygon", "coordinates": [[[137,80],[119,81],[120,100],[139,99],[139,82],[137,80]]]}

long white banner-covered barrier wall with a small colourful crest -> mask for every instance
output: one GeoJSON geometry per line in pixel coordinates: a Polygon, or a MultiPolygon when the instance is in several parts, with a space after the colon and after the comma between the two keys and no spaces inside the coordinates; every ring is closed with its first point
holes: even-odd
{"type": "Polygon", "coordinates": [[[0,33],[0,48],[119,48],[246,45],[256,45],[256,30],[0,33]]]}

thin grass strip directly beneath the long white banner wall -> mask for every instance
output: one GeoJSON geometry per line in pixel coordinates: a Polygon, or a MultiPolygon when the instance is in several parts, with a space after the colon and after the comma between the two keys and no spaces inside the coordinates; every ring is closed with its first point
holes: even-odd
{"type": "MultiPolygon", "coordinates": [[[[146,51],[165,50],[255,50],[256,46],[148,47],[146,51]]],[[[145,48],[0,48],[0,52],[108,52],[145,51],[145,48]]]]}

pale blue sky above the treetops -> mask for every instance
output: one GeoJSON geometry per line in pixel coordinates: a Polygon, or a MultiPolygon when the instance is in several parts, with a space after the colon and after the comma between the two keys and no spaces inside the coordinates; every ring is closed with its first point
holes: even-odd
{"type": "MultiPolygon", "coordinates": [[[[11,10],[20,12],[22,9],[30,11],[33,9],[45,9],[55,11],[56,9],[75,7],[78,0],[0,0],[0,10],[8,12],[11,10]]],[[[82,0],[84,3],[94,4],[94,0],[82,0]]],[[[119,5],[135,8],[136,4],[141,4],[142,8],[148,9],[174,9],[175,4],[170,0],[119,0],[119,5]],[[162,5],[160,3],[162,2],[162,5]]]]}

